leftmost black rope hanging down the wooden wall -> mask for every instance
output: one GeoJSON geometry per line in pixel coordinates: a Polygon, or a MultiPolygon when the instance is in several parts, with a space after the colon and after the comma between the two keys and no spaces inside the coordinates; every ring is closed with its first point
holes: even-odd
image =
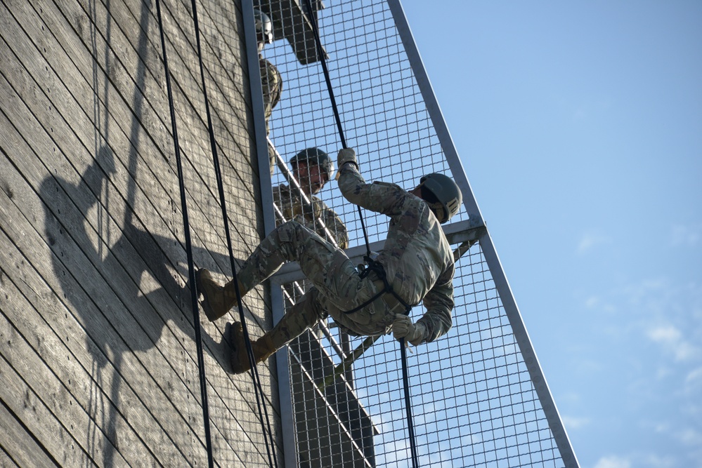
{"type": "Polygon", "coordinates": [[[207,463],[210,468],[214,467],[212,458],[212,436],[209,430],[209,405],[207,403],[207,379],[204,375],[204,356],[202,352],[202,335],[200,333],[200,309],[197,305],[197,284],[195,283],[195,267],[193,266],[193,245],[190,242],[190,222],[188,221],[188,203],[186,201],[186,186],[183,182],[183,165],[181,163],[181,147],[178,145],[178,129],[176,128],[176,111],[173,103],[173,93],[171,91],[171,76],[168,69],[168,58],[166,55],[166,39],[163,34],[163,22],[161,19],[161,2],[156,0],[156,11],[158,16],[158,26],[161,36],[161,48],[163,51],[163,67],[166,74],[166,89],[168,93],[168,104],[171,111],[171,129],[173,131],[173,145],[178,166],[178,187],[181,192],[181,209],[183,210],[183,231],[186,236],[186,252],[188,254],[188,281],[190,283],[190,299],[193,302],[193,326],[195,327],[195,343],[197,344],[197,370],[200,376],[200,395],[202,398],[202,417],[204,419],[204,439],[207,447],[207,463]]]}

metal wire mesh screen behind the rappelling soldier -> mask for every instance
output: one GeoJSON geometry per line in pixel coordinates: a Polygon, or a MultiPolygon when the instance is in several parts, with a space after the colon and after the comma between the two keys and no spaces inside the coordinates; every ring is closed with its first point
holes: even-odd
{"type": "MultiPolygon", "coordinates": [[[[283,161],[307,147],[319,147],[336,161],[341,143],[323,70],[309,46],[311,29],[299,13],[304,4],[260,0],[256,6],[275,26],[276,40],[261,55],[283,81],[268,138],[283,161]]],[[[386,2],[330,1],[316,16],[346,142],[356,149],[364,178],[411,189],[425,173],[450,175],[386,2]]],[[[279,161],[272,167],[274,190],[293,183],[281,166],[279,161]]],[[[294,193],[285,193],[294,204],[294,193]]],[[[342,220],[350,246],[363,244],[357,208],[343,199],[334,181],[316,196],[342,220]]],[[[285,201],[279,197],[277,203],[285,201]]],[[[282,211],[278,220],[285,218],[282,211]]],[[[387,218],[369,211],[363,216],[370,242],[384,240],[387,218]]],[[[452,222],[467,218],[462,210],[452,222]]],[[[338,226],[325,225],[337,239],[338,226]]],[[[453,329],[408,354],[420,465],[563,467],[480,243],[456,266],[453,329]]],[[[284,286],[287,305],[304,288],[284,286]]],[[[422,313],[415,307],[412,319],[422,313]]],[[[391,336],[377,340],[351,370],[324,384],[342,356],[363,340],[340,333],[330,321],[290,345],[294,427],[283,429],[295,432],[300,467],[411,465],[400,355],[391,336]]]]}

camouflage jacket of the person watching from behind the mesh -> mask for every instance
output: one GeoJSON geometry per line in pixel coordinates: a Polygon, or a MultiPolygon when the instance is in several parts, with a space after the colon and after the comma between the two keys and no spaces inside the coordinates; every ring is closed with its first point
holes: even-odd
{"type": "MultiPolygon", "coordinates": [[[[308,196],[312,202],[312,207],[305,206],[299,195],[294,194],[287,185],[273,187],[273,203],[282,211],[285,221],[295,220],[301,225],[319,234],[322,239],[328,239],[327,234],[319,222],[321,219],[325,227],[329,230],[339,248],[349,247],[349,234],[346,233],[346,226],[337,213],[329,208],[326,203],[314,195],[308,196]]],[[[278,222],[280,225],[281,222],[278,222]]]]}

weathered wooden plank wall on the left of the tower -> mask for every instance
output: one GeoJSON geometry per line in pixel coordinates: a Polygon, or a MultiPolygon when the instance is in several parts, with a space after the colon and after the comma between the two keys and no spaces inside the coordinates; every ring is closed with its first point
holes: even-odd
{"type": "MultiPolygon", "coordinates": [[[[190,0],[161,8],[195,265],[230,276],[190,0]]],[[[245,258],[263,227],[242,13],[197,8],[245,258]]],[[[155,0],[2,0],[0,21],[0,465],[206,466],[155,0]]],[[[246,298],[254,335],[264,297],[246,298]]],[[[226,320],[201,322],[216,465],[267,466],[250,377],[226,372],[226,320]]]]}

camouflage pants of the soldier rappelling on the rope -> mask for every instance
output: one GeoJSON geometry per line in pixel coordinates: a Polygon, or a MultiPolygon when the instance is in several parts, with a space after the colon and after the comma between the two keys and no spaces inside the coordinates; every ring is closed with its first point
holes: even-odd
{"type": "Polygon", "coordinates": [[[382,335],[389,330],[394,314],[382,299],[358,312],[344,313],[368,302],[377,293],[376,284],[360,278],[344,250],[298,222],[286,222],[268,234],[244,263],[238,279],[245,290],[251,290],[287,261],[297,261],[314,286],[272,330],[271,333],[282,333],[280,340],[275,340],[278,346],[290,342],[327,314],[357,335],[382,335]]]}

